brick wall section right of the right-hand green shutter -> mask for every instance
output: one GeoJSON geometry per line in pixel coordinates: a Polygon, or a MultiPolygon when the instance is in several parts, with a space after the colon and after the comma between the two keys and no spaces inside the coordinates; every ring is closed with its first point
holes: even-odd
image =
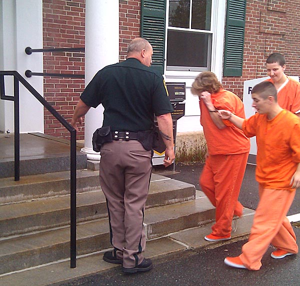
{"type": "Polygon", "coordinates": [[[243,82],[267,76],[265,60],[274,52],[284,54],[287,75],[300,76],[299,9],[292,0],[247,1],[242,76],[224,77],[224,88],[242,98],[243,82]]]}

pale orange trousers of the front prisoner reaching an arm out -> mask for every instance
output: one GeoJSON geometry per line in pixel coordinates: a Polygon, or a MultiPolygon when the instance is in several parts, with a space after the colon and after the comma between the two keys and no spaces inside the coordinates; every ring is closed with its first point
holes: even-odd
{"type": "Polygon", "coordinates": [[[255,211],[249,240],[242,246],[240,259],[250,270],[258,270],[269,244],[291,253],[298,252],[295,234],[286,214],[295,191],[263,189],[259,186],[259,203],[255,211]]]}

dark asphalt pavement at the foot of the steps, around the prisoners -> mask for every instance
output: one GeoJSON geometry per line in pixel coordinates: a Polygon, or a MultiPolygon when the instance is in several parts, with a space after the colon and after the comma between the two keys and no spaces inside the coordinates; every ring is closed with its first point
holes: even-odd
{"type": "MultiPolygon", "coordinates": [[[[183,182],[198,184],[199,173],[203,164],[176,164],[175,173],[164,174],[183,182]]],[[[169,167],[168,170],[172,170],[169,167]]],[[[258,185],[255,181],[255,166],[247,165],[242,183],[239,201],[247,208],[255,209],[258,203],[258,185]]],[[[297,191],[288,215],[300,212],[300,197],[297,191]]],[[[300,239],[300,228],[294,227],[297,239],[300,239]]],[[[247,240],[225,241],[215,248],[186,250],[177,254],[168,254],[153,260],[153,269],[145,273],[125,274],[121,267],[85,276],[71,282],[55,286],[73,285],[121,285],[121,286],[297,286],[300,285],[300,254],[286,256],[283,259],[270,257],[273,248],[269,246],[262,258],[258,271],[236,269],[223,263],[227,256],[240,254],[241,246],[247,240]]]]}

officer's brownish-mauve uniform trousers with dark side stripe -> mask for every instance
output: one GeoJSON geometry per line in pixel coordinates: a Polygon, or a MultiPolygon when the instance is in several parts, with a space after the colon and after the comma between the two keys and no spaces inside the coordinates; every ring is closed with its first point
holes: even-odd
{"type": "Polygon", "coordinates": [[[143,217],[151,170],[151,151],[136,140],[101,147],[100,185],[107,201],[110,241],[126,268],[143,260],[143,217]]]}

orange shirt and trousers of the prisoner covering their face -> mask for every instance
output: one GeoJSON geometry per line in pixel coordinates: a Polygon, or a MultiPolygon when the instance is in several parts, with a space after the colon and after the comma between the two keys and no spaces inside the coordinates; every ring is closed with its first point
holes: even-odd
{"type": "MultiPolygon", "coordinates": [[[[232,92],[220,89],[211,94],[211,101],[216,109],[230,110],[245,118],[241,100],[232,92]]],[[[233,214],[241,216],[242,205],[237,201],[242,183],[248,153],[249,139],[244,133],[224,120],[226,125],[218,129],[213,123],[207,107],[200,100],[200,123],[207,143],[209,156],[199,178],[201,190],[215,206],[215,224],[212,234],[226,236],[231,232],[233,214]]]]}

